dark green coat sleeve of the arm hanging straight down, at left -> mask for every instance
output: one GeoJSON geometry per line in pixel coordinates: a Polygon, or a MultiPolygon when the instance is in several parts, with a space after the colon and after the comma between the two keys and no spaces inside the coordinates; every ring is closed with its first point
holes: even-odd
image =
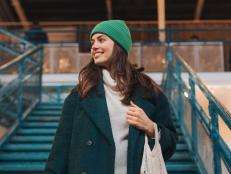
{"type": "Polygon", "coordinates": [[[59,126],[46,163],[45,174],[67,174],[73,115],[78,105],[77,99],[78,95],[74,92],[65,99],[59,126]]]}

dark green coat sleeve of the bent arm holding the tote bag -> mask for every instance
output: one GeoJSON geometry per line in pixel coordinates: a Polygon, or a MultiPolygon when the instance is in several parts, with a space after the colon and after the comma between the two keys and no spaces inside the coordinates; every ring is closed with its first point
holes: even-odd
{"type": "Polygon", "coordinates": [[[157,98],[154,121],[160,129],[160,145],[164,160],[169,159],[176,150],[177,133],[173,125],[173,109],[163,92],[157,98]]]}

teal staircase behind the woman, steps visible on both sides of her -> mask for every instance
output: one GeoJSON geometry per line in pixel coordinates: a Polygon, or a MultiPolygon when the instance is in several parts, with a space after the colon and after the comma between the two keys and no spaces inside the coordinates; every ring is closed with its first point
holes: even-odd
{"type": "MultiPolygon", "coordinates": [[[[61,104],[41,103],[25,118],[0,151],[0,174],[42,173],[48,158],[61,104]]],[[[176,153],[166,162],[169,174],[196,174],[197,167],[190,157],[178,121],[179,134],[176,153]]]]}

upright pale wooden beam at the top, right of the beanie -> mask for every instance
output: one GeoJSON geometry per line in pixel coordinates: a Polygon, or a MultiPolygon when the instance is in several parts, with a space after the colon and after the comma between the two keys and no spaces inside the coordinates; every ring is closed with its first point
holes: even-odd
{"type": "Polygon", "coordinates": [[[158,12],[158,29],[162,30],[159,31],[159,41],[165,42],[166,35],[165,35],[165,0],[157,0],[157,12],[158,12]]]}

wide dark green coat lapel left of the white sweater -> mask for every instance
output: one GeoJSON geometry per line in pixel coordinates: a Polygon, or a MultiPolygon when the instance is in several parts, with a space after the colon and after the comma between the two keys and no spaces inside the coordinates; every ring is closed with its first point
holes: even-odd
{"type": "Polygon", "coordinates": [[[106,137],[108,142],[110,144],[114,144],[102,80],[98,82],[96,88],[97,90],[92,90],[89,93],[89,96],[81,101],[81,106],[87,112],[90,119],[94,122],[97,128],[106,137]]]}

